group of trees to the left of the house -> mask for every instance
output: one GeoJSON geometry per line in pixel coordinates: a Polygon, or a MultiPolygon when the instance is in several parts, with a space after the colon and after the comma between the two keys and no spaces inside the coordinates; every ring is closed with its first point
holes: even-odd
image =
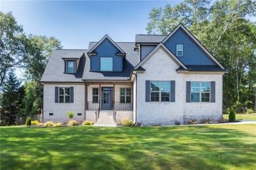
{"type": "Polygon", "coordinates": [[[12,125],[16,116],[41,113],[43,86],[39,83],[51,52],[62,48],[54,37],[26,34],[12,12],[0,12],[1,125],[12,125]],[[24,79],[15,75],[24,71],[24,79]]]}

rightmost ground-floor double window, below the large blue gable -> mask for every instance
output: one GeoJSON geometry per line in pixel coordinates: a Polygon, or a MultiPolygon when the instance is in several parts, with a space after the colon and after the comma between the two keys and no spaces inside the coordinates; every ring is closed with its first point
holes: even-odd
{"type": "Polygon", "coordinates": [[[210,82],[191,82],[191,102],[210,102],[210,82]]]}

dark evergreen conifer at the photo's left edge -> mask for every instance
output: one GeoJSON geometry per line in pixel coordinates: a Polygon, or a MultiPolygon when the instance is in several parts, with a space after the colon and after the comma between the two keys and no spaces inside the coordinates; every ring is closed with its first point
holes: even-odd
{"type": "Polygon", "coordinates": [[[22,89],[20,89],[20,80],[14,75],[14,69],[9,71],[7,80],[3,84],[3,93],[1,95],[1,107],[3,113],[1,120],[8,125],[14,124],[18,110],[20,109],[20,97],[22,97],[22,89]]]}

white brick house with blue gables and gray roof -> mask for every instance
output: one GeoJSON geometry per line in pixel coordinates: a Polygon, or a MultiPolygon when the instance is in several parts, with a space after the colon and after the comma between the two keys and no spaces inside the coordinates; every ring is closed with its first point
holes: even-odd
{"type": "Polygon", "coordinates": [[[88,50],[54,50],[43,84],[43,121],[93,120],[143,125],[217,120],[223,108],[223,65],[179,24],[169,35],[105,35],[88,50]]]}

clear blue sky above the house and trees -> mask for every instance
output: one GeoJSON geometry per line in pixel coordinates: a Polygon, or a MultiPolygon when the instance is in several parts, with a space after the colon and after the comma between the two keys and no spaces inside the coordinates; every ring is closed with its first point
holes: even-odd
{"type": "Polygon", "coordinates": [[[87,49],[108,34],[114,41],[135,41],[146,33],[152,8],[181,1],[1,1],[26,33],[59,39],[64,48],[87,49]]]}

